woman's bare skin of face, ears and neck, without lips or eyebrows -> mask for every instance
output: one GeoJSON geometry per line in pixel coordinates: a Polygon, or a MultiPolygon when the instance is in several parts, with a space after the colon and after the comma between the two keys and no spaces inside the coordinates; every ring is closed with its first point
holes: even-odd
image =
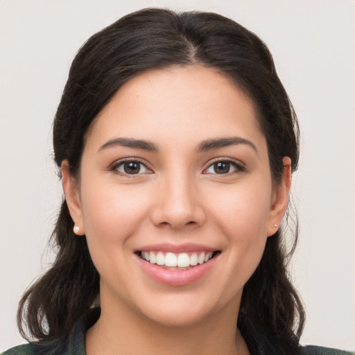
{"type": "Polygon", "coordinates": [[[214,69],[148,71],[98,114],[80,176],[63,162],[69,211],[101,275],[102,313],[87,332],[87,354],[248,354],[235,326],[243,286],[281,223],[291,185],[288,157],[282,182],[272,183],[256,117],[250,98],[214,69]],[[158,150],[105,146],[123,137],[158,150]],[[198,150],[225,137],[251,144],[198,150]],[[117,166],[128,158],[144,164],[141,173],[117,166]],[[226,159],[237,165],[216,173],[213,164],[226,159]],[[199,243],[220,254],[197,282],[171,286],[137,263],[135,250],[155,243],[199,243]]]}

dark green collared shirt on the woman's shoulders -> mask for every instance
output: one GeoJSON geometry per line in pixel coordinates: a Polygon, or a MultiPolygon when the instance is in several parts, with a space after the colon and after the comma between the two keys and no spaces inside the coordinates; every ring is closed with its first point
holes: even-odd
{"type": "MultiPolygon", "coordinates": [[[[89,327],[98,320],[100,309],[92,309],[83,317],[66,338],[55,345],[26,344],[12,347],[2,355],[85,355],[85,334],[89,327]]],[[[242,331],[243,334],[243,331],[242,331]]],[[[244,334],[243,334],[244,336],[244,334]]],[[[278,355],[277,347],[272,341],[265,339],[252,339],[244,336],[251,355],[278,355]]],[[[119,354],[119,353],[117,353],[119,354]]],[[[125,354],[122,354],[125,355],[125,354]]],[[[144,355],[144,354],[142,354],[144,355]]],[[[223,354],[216,354],[223,355],[223,354]]],[[[355,352],[343,352],[342,350],[326,347],[306,346],[300,347],[298,355],[355,355],[355,352]]]]}

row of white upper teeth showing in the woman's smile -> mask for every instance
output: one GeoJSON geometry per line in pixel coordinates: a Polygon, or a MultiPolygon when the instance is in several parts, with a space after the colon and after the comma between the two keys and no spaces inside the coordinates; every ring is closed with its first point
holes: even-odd
{"type": "Polygon", "coordinates": [[[206,263],[211,259],[213,252],[193,252],[191,255],[189,254],[187,252],[180,254],[173,252],[167,252],[166,254],[164,252],[141,252],[141,257],[157,265],[187,268],[188,266],[195,266],[198,263],[206,263]]]}

